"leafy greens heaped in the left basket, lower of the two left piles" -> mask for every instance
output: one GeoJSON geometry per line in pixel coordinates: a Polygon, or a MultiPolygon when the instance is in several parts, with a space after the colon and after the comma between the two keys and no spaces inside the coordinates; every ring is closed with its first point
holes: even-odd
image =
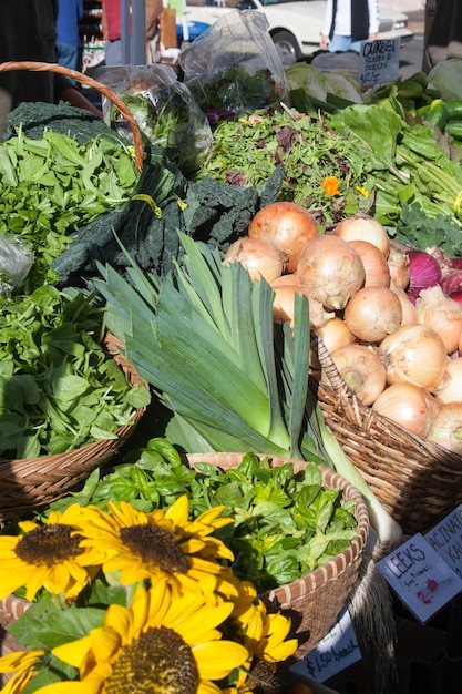
{"type": "MultiPolygon", "coordinates": [[[[94,298],[94,297],[93,297],[94,298]]],[[[113,439],[148,390],[103,349],[104,309],[43,286],[0,298],[0,456],[35,458],[113,439]]]]}

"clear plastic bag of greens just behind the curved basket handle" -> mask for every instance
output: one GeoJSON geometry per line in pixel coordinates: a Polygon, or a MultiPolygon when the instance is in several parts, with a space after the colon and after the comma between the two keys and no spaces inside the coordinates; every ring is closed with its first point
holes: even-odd
{"type": "MultiPolygon", "coordinates": [[[[100,82],[119,96],[152,144],[165,149],[186,177],[201,167],[213,143],[206,115],[188,88],[170,65],[115,65],[97,71],[100,82]]],[[[102,99],[104,121],[132,140],[130,126],[107,98],[102,99]]]]}

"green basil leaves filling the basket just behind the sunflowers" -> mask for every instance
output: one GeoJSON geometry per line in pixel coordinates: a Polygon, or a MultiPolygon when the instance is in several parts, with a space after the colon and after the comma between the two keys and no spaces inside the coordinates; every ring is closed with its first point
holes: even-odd
{"type": "Polygon", "coordinates": [[[234,573],[251,581],[259,592],[314,571],[357,535],[355,501],[341,501],[340,489],[324,488],[315,462],[296,474],[291,462],[276,467],[268,458],[246,453],[229,470],[208,462],[193,469],[162,438],[151,439],[125,460],[101,479],[94,471],[81,492],[52,508],[62,511],[78,501],[106,509],[107,501],[125,500],[148,513],[166,510],[186,493],[189,518],[196,519],[223,506],[223,514],[234,523],[217,531],[217,537],[234,553],[234,573]]]}

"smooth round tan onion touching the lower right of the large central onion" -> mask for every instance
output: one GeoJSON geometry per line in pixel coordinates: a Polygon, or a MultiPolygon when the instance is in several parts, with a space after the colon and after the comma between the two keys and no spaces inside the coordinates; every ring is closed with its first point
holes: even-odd
{"type": "Polygon", "coordinates": [[[402,308],[388,287],[362,287],[348,302],[343,320],[358,339],[379,343],[401,325],[402,308]]]}

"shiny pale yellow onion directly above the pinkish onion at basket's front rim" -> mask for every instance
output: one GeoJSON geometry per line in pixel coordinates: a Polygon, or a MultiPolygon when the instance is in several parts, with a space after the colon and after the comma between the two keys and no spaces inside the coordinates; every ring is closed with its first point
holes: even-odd
{"type": "Polygon", "coordinates": [[[432,328],[419,323],[403,325],[379,345],[388,384],[408,382],[433,391],[446,364],[444,343],[432,328]]]}

